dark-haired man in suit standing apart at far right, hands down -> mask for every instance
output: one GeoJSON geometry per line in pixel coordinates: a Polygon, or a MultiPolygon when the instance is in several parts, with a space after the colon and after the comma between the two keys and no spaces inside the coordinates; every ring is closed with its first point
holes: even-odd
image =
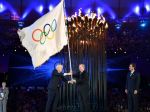
{"type": "Polygon", "coordinates": [[[129,65],[125,93],[128,94],[128,112],[138,112],[138,94],[140,85],[140,74],[136,71],[136,65],[129,65]]]}

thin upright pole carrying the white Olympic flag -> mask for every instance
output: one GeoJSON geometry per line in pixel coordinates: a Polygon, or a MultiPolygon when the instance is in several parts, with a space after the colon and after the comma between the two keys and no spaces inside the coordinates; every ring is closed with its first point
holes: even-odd
{"type": "MultiPolygon", "coordinates": [[[[64,7],[64,16],[66,17],[66,11],[65,11],[65,0],[63,0],[63,7],[64,7]]],[[[65,21],[67,22],[67,21],[65,21]]],[[[66,25],[67,26],[67,25],[66,25]]],[[[68,35],[68,56],[69,56],[69,67],[70,67],[70,72],[72,72],[72,61],[71,61],[71,53],[70,53],[70,44],[69,44],[69,32],[67,28],[67,35],[68,35]]],[[[71,80],[73,79],[72,74],[71,74],[71,80]]]]}

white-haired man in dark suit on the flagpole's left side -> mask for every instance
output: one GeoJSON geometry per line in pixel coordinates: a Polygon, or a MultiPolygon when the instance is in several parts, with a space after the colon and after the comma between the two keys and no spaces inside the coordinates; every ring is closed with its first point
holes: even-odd
{"type": "Polygon", "coordinates": [[[48,100],[45,112],[56,112],[59,100],[59,87],[62,82],[67,82],[64,76],[71,75],[72,73],[62,73],[63,66],[58,64],[52,73],[52,77],[48,84],[48,100]]]}

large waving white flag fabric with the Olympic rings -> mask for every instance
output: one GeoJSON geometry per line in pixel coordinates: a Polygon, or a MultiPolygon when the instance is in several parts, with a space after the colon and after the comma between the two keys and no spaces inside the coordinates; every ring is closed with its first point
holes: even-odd
{"type": "Polygon", "coordinates": [[[18,31],[22,45],[29,52],[34,68],[67,45],[63,0],[31,26],[18,31]]]}

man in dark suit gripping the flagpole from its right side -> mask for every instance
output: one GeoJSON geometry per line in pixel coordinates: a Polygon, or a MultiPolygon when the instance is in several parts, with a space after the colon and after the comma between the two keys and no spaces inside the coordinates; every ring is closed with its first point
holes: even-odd
{"type": "Polygon", "coordinates": [[[85,65],[79,65],[79,72],[73,75],[73,82],[76,83],[77,93],[80,98],[80,107],[82,112],[92,112],[89,100],[89,76],[85,70],[85,65]]]}

